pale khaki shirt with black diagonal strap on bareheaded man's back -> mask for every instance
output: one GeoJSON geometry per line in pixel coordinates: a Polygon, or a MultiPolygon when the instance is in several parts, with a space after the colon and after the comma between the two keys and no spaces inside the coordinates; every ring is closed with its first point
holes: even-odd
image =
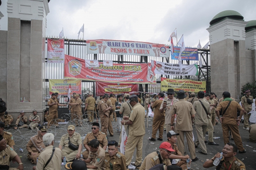
{"type": "Polygon", "coordinates": [[[208,125],[208,118],[210,114],[210,104],[209,102],[206,102],[204,99],[199,99],[199,101],[194,102],[193,107],[196,111],[195,115],[195,124],[198,125],[208,125]],[[205,112],[204,108],[202,107],[201,101],[207,110],[207,113],[205,112]]]}

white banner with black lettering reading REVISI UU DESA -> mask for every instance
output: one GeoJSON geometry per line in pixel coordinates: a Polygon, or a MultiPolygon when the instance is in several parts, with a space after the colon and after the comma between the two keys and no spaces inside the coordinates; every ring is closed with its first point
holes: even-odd
{"type": "Polygon", "coordinates": [[[182,65],[182,72],[180,72],[180,64],[164,63],[160,61],[151,60],[152,71],[160,75],[172,76],[194,76],[198,75],[198,66],[196,64],[182,65]]]}

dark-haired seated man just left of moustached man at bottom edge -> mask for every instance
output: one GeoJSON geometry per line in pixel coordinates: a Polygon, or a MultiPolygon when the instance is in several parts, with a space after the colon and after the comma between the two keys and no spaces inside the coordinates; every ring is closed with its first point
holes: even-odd
{"type": "Polygon", "coordinates": [[[87,164],[87,169],[105,170],[105,150],[102,149],[97,139],[92,139],[89,143],[90,152],[86,160],[82,159],[87,164]]]}

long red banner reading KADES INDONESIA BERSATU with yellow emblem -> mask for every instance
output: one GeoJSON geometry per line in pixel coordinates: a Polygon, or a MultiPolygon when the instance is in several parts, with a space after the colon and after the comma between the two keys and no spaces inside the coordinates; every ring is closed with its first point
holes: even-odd
{"type": "Polygon", "coordinates": [[[150,63],[113,64],[107,67],[99,62],[99,67],[86,68],[84,59],[65,55],[64,78],[112,83],[156,84],[155,76],[148,74],[148,65],[150,63]]]}

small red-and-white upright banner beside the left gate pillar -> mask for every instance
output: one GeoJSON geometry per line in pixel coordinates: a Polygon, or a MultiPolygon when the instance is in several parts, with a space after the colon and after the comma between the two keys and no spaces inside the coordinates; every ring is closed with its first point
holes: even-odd
{"type": "Polygon", "coordinates": [[[47,38],[47,62],[64,63],[64,39],[47,38]]]}

